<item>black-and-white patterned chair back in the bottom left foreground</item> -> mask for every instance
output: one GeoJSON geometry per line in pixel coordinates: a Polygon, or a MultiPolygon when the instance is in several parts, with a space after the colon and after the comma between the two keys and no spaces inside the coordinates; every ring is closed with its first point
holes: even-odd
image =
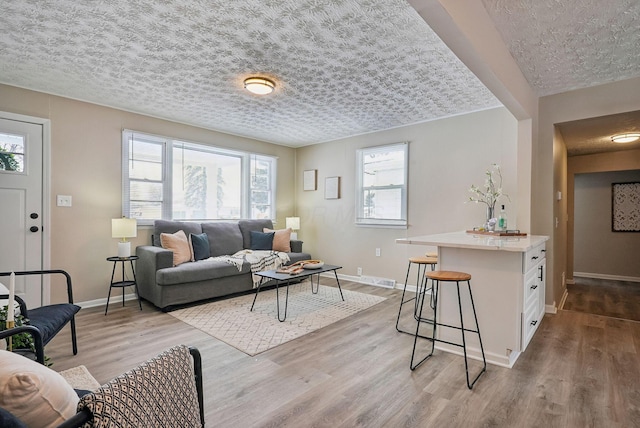
{"type": "Polygon", "coordinates": [[[84,408],[96,428],[201,427],[189,348],[176,346],[118,376],[82,397],[78,411],[84,408]]]}

